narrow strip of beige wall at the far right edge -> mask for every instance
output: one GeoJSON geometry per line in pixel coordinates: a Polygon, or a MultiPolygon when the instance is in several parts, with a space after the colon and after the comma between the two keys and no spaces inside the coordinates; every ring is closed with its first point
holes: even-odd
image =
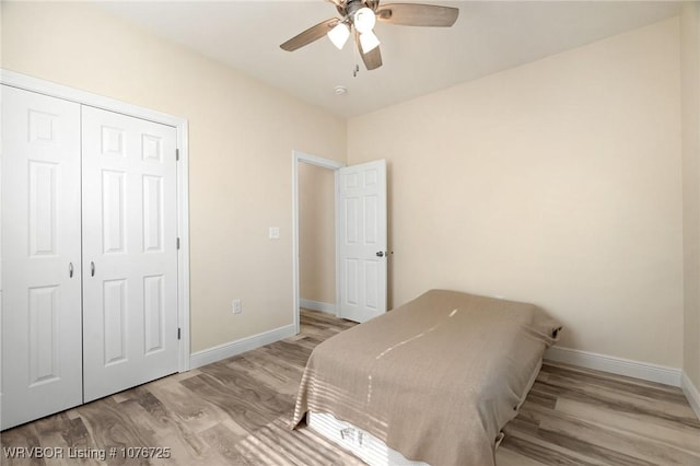
{"type": "Polygon", "coordinates": [[[685,357],[684,372],[700,387],[700,3],[681,15],[685,357]]]}

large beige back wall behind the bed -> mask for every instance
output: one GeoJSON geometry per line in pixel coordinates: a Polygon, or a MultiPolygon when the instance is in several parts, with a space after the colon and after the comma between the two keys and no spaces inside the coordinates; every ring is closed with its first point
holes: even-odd
{"type": "Polygon", "coordinates": [[[394,304],[535,302],[561,346],[679,368],[679,24],[668,20],[353,118],[387,159],[394,304]]]}

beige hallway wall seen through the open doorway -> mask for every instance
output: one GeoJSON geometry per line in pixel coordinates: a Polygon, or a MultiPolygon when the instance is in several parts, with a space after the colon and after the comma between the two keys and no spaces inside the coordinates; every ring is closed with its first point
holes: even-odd
{"type": "Polygon", "coordinates": [[[299,275],[301,299],[336,303],[334,171],[299,164],[299,275]]]}

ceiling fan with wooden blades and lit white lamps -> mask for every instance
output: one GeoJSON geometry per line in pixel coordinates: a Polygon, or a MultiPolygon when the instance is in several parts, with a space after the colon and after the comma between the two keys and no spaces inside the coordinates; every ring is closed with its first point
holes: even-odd
{"type": "Polygon", "coordinates": [[[362,61],[368,70],[382,66],[380,39],[374,34],[376,21],[405,26],[452,26],[459,10],[422,3],[389,3],[380,5],[380,0],[326,0],[336,5],[342,18],[331,18],[295,35],[280,45],[283,50],[294,51],[327,35],[341,49],[351,32],[362,61]]]}

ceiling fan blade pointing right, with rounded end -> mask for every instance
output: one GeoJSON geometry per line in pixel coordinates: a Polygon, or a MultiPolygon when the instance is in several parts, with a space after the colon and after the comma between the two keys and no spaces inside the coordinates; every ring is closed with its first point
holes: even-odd
{"type": "Polygon", "coordinates": [[[389,3],[376,11],[378,21],[404,26],[448,27],[458,15],[459,9],[422,3],[389,3]]]}

